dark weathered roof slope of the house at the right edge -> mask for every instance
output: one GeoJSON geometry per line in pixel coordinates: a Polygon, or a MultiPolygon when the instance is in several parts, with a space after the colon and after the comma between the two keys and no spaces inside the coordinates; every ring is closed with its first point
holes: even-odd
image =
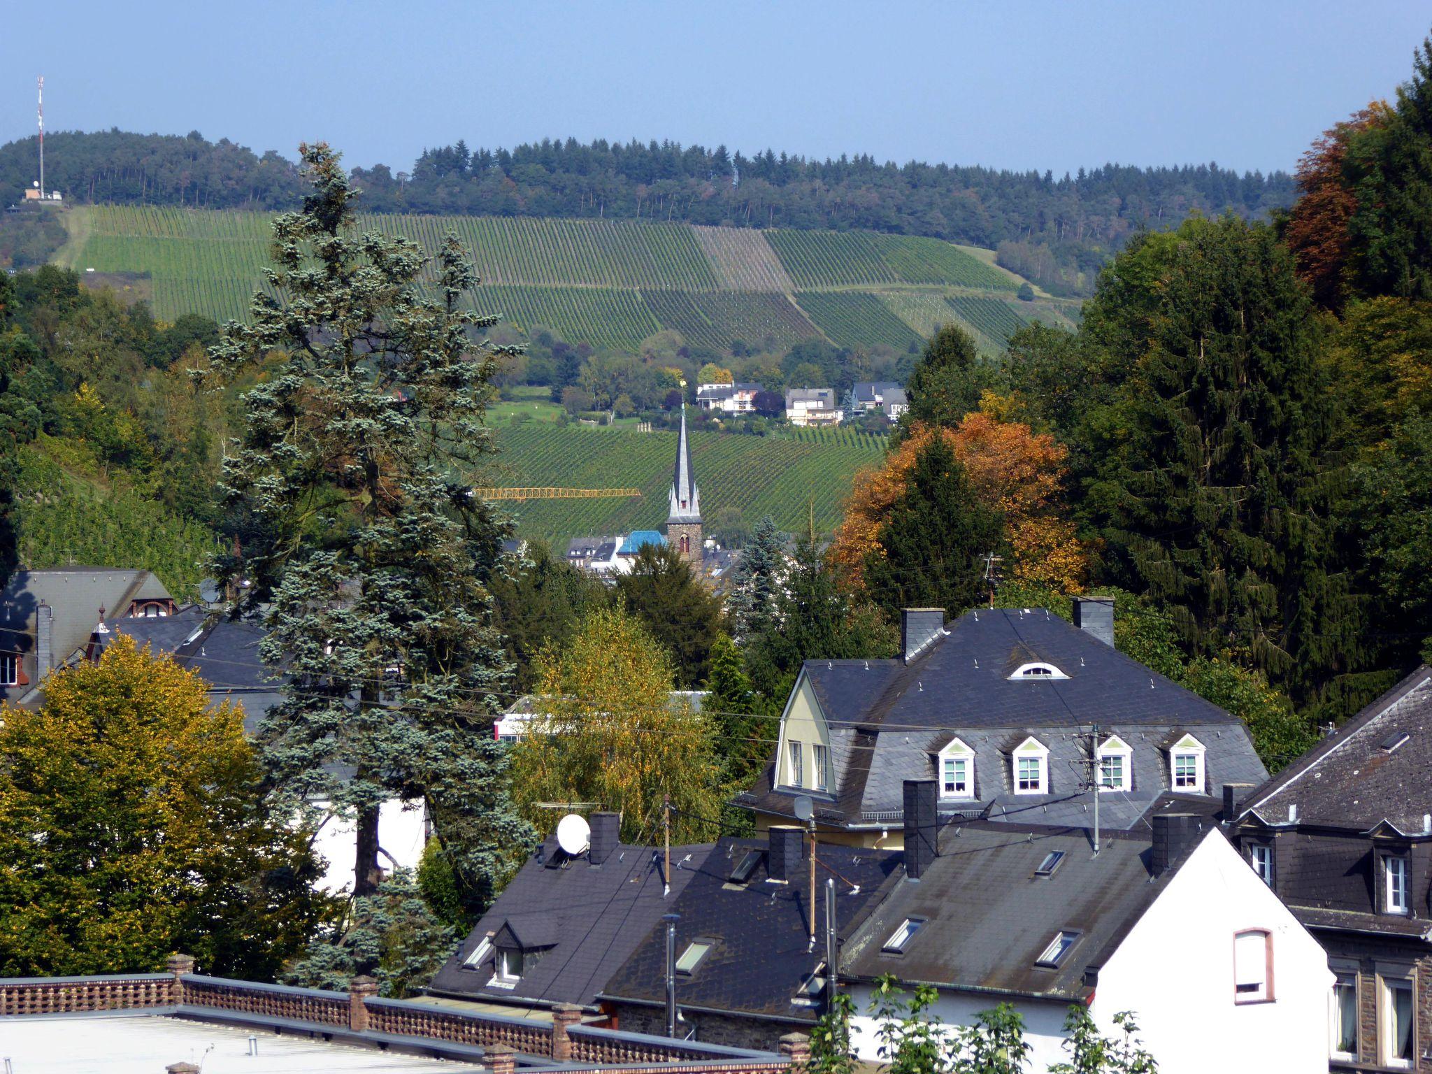
{"type": "Polygon", "coordinates": [[[1423,664],[1246,799],[1267,823],[1421,833],[1432,813],[1432,667],[1423,664]],[[1406,735],[1406,740],[1400,740],[1406,735]],[[1388,749],[1395,746],[1395,749],[1388,749]]]}

